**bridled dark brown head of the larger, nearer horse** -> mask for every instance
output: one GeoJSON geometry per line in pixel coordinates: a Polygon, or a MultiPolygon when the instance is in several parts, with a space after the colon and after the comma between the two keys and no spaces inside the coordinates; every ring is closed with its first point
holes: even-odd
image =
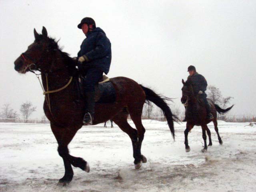
{"type": "Polygon", "coordinates": [[[34,36],[34,42],[14,62],[14,69],[19,73],[25,74],[32,70],[48,72],[51,68],[49,56],[52,51],[58,49],[58,44],[47,36],[45,27],[42,29],[42,34],[38,34],[34,29],[34,36]]]}

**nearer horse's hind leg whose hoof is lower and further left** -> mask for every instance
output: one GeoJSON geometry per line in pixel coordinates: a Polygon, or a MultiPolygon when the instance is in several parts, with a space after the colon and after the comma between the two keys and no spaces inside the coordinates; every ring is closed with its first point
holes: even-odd
{"type": "Polygon", "coordinates": [[[141,154],[138,153],[138,132],[136,129],[132,128],[127,122],[128,112],[123,110],[114,116],[113,121],[118,127],[124,131],[130,139],[132,140],[132,149],[133,149],[133,157],[135,168],[139,168],[138,163],[141,161],[141,154]]]}

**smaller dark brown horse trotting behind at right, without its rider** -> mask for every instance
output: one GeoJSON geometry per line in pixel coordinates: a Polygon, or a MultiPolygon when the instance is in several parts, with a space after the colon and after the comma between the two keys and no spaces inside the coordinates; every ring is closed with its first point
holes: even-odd
{"type": "Polygon", "coordinates": [[[204,140],[204,148],[202,149],[202,152],[205,152],[207,150],[207,144],[206,144],[206,132],[209,137],[209,144],[208,146],[212,146],[212,138],[211,138],[211,132],[207,126],[208,123],[211,121],[214,124],[214,129],[218,135],[219,143],[222,144],[222,140],[220,138],[220,134],[218,132],[218,123],[217,123],[217,112],[220,114],[224,114],[228,112],[234,105],[232,105],[229,108],[222,109],[217,104],[214,104],[212,100],[207,99],[208,103],[211,105],[211,113],[213,115],[212,120],[206,119],[206,108],[202,101],[200,101],[200,98],[198,96],[194,95],[192,85],[189,82],[184,82],[182,79],[183,87],[182,87],[182,98],[181,102],[186,106],[186,129],[184,131],[185,134],[185,149],[186,152],[190,151],[190,147],[188,145],[188,132],[192,130],[192,128],[196,126],[202,127],[202,133],[203,133],[203,140],[204,140]],[[217,112],[216,112],[217,111],[217,112]]]}

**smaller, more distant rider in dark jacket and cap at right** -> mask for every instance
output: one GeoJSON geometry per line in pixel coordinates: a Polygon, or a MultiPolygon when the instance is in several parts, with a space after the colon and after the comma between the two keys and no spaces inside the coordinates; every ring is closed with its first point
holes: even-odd
{"type": "Polygon", "coordinates": [[[196,68],[192,65],[188,67],[188,72],[189,72],[189,76],[186,82],[190,82],[190,84],[192,85],[194,95],[200,96],[200,98],[202,98],[202,100],[204,101],[204,104],[206,106],[206,113],[207,113],[206,118],[209,120],[213,119],[210,106],[206,99],[206,96],[207,96],[205,93],[206,87],[207,87],[206,79],[204,78],[204,76],[198,74],[198,72],[196,72],[196,68]]]}

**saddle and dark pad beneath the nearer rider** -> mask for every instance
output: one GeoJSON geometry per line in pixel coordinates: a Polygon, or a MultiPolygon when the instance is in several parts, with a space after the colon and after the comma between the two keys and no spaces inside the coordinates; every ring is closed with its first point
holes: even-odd
{"type": "MultiPolygon", "coordinates": [[[[79,92],[82,98],[85,98],[85,80],[86,76],[79,76],[79,92]]],[[[99,80],[98,84],[96,84],[94,88],[96,103],[114,103],[116,101],[116,90],[106,75],[104,75],[102,79],[99,80]]]]}

